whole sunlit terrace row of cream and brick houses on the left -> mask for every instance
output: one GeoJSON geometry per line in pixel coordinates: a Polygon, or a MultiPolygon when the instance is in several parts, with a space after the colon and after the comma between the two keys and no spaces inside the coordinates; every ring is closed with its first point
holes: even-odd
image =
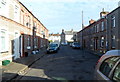
{"type": "Polygon", "coordinates": [[[0,0],[0,61],[36,53],[48,44],[48,29],[18,0],[0,0]]]}

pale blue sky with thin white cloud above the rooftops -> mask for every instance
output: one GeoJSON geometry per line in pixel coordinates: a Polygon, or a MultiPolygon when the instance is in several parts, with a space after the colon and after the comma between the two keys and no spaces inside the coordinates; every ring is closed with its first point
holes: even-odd
{"type": "Polygon", "coordinates": [[[82,29],[82,11],[84,26],[89,20],[98,20],[100,12],[111,12],[118,7],[120,0],[19,0],[43,23],[49,33],[61,33],[64,30],[82,29]]]}

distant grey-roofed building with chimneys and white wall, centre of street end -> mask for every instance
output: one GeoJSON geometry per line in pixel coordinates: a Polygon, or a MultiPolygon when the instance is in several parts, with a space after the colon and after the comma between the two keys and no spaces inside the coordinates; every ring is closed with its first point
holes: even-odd
{"type": "Polygon", "coordinates": [[[63,42],[73,42],[74,40],[76,40],[76,31],[73,31],[73,29],[71,29],[71,31],[64,31],[62,30],[61,33],[61,43],[63,42]]]}

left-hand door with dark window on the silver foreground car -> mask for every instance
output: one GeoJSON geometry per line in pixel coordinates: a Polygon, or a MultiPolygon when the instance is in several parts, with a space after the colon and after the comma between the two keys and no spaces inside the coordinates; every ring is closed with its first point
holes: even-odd
{"type": "Polygon", "coordinates": [[[97,80],[110,80],[109,74],[120,57],[110,57],[105,59],[97,69],[97,80]]]}

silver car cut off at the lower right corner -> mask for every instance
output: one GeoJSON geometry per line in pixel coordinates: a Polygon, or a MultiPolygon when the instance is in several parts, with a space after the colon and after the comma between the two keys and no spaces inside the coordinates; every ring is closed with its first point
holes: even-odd
{"type": "Polygon", "coordinates": [[[94,78],[120,82],[120,50],[110,50],[98,60],[94,78]]]}

